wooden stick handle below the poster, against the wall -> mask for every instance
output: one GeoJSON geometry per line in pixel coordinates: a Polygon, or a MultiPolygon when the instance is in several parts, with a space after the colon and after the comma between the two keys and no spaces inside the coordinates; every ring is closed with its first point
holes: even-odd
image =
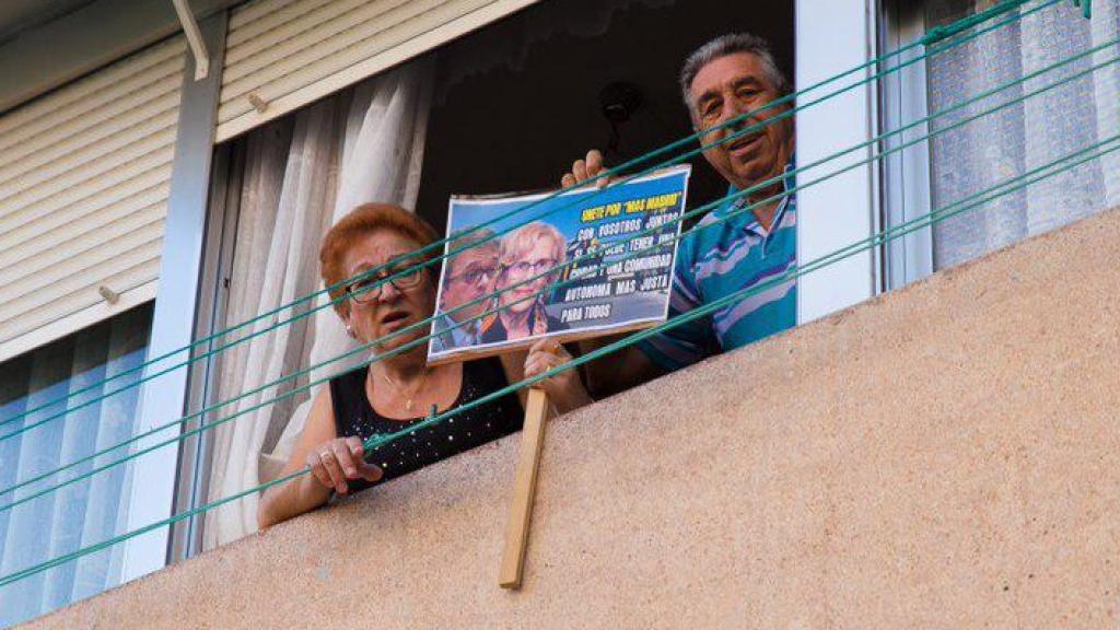
{"type": "Polygon", "coordinates": [[[513,503],[505,530],[505,550],[502,553],[502,568],[498,585],[503,589],[520,589],[525,568],[525,544],[529,540],[529,520],[533,511],[533,493],[536,490],[536,470],[541,463],[541,445],[544,443],[544,419],[548,415],[549,397],[540,389],[529,390],[525,405],[525,425],[521,429],[521,454],[517,457],[517,476],[513,485],[513,503]]]}

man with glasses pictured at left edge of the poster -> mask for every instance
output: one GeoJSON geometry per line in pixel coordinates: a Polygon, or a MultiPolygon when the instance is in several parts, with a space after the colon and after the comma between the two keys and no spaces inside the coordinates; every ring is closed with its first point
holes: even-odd
{"type": "Polygon", "coordinates": [[[448,261],[448,270],[439,298],[439,315],[433,324],[431,351],[444,352],[476,345],[496,317],[493,299],[482,299],[494,293],[497,278],[500,243],[491,230],[478,230],[451,242],[451,250],[465,249],[448,261]],[[458,308],[465,304],[476,304],[458,308]],[[456,309],[457,311],[452,311],[456,309]]]}

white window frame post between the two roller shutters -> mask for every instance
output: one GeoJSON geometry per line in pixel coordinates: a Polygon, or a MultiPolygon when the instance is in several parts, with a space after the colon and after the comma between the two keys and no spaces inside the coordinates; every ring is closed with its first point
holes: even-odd
{"type": "MultiPolygon", "coordinates": [[[[211,193],[211,163],[214,155],[214,129],[217,118],[217,95],[222,80],[225,54],[227,13],[221,11],[199,24],[206,48],[209,50],[211,72],[202,80],[194,78],[194,59],[188,58],[184,68],[183,101],[171,170],[171,189],[168,200],[166,239],[160,262],[159,289],[152,318],[148,356],[161,356],[188,346],[194,340],[196,313],[203,278],[203,253],[206,241],[207,202],[211,193]]],[[[187,359],[177,353],[168,360],[149,365],[144,377],[155,374],[187,359]]],[[[178,369],[153,380],[140,389],[137,432],[171,423],[188,410],[188,388],[193,365],[178,369]]],[[[197,377],[196,377],[197,378],[197,377]]],[[[197,426],[169,427],[134,445],[140,450],[179,436],[184,429],[197,426]]],[[[171,515],[190,509],[197,501],[192,497],[187,504],[177,506],[179,475],[195,475],[199,441],[187,441],[172,448],[165,446],[133,462],[132,488],[128,530],[134,531],[171,515]],[[181,462],[181,465],[180,465],[181,462]]],[[[194,487],[194,483],[189,485],[194,487]]],[[[183,502],[183,501],[180,501],[183,502]]],[[[171,527],[160,527],[124,543],[122,582],[129,582],[165,567],[171,559],[171,527]]],[[[178,558],[175,558],[178,559],[178,558]]]]}

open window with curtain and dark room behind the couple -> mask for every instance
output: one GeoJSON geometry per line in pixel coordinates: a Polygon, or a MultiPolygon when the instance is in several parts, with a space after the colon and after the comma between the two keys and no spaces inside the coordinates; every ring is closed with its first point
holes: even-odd
{"type": "MultiPolygon", "coordinates": [[[[223,143],[215,176],[222,192],[212,200],[212,224],[223,228],[207,253],[218,269],[214,328],[315,291],[318,242],[357,203],[416,207],[442,230],[451,194],[552,188],[588,149],[620,164],[690,135],[678,84],[684,57],[712,37],[746,30],[767,38],[792,76],[794,9],[794,2],[777,2],[731,10],[719,0],[539,2],[223,143]]],[[[692,161],[689,205],[697,207],[722,196],[727,184],[702,158],[692,161]]],[[[211,401],[292,374],[349,344],[335,315],[323,309],[218,359],[211,401]]],[[[267,388],[207,420],[345,365],[267,388]]],[[[299,391],[215,429],[206,461],[190,473],[204,480],[203,491],[187,501],[180,495],[177,510],[274,476],[302,426],[307,399],[299,391]]],[[[253,530],[255,504],[251,497],[211,512],[189,535],[194,547],[253,530]]]]}

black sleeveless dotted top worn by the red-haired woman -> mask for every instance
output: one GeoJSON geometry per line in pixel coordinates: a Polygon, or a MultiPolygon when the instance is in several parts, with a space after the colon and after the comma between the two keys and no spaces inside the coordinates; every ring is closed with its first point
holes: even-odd
{"type": "MultiPolygon", "coordinates": [[[[330,404],[335,414],[335,430],[339,437],[356,435],[364,442],[374,434],[395,433],[423,419],[399,420],[376,413],[365,395],[367,372],[368,367],[363,367],[330,379],[330,404]]],[[[506,385],[500,360],[491,358],[464,363],[463,385],[451,408],[477,400],[506,385]]],[[[385,475],[376,483],[361,479],[351,481],[351,493],[508,435],[521,429],[523,420],[521,401],[516,395],[507,393],[433,426],[412,432],[367,453],[366,461],[381,466],[385,475]]]]}

